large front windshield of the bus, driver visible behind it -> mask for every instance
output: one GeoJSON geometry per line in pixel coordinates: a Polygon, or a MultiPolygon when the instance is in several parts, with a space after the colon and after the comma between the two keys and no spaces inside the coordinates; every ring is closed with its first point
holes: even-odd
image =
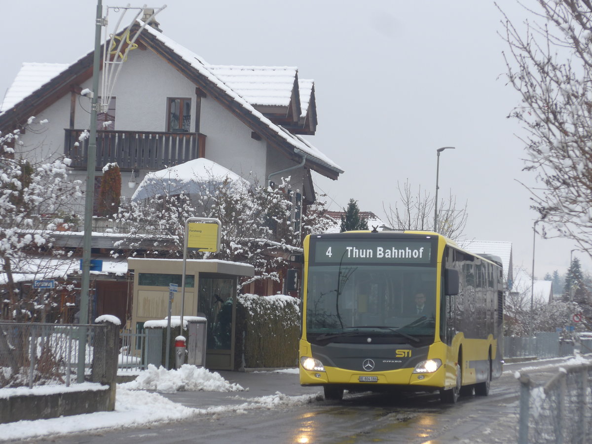
{"type": "Polygon", "coordinates": [[[310,265],[308,334],[434,336],[436,266],[310,265]]]}

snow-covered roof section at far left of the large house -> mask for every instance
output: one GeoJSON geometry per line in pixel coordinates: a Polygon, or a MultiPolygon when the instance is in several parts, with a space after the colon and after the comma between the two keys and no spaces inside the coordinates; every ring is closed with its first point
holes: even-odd
{"type": "Polygon", "coordinates": [[[69,66],[65,63],[23,63],[0,104],[0,112],[14,107],[69,66]]]}

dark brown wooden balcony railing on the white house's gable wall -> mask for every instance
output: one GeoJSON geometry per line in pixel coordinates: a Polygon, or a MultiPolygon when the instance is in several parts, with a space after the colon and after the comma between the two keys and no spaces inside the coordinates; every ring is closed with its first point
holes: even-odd
{"type": "MultiPolygon", "coordinates": [[[[76,170],[86,170],[88,161],[89,140],[79,141],[83,131],[65,129],[64,154],[76,170]]],[[[121,170],[160,170],[204,155],[205,135],[201,133],[96,131],[96,170],[113,162],[121,170]]]]}

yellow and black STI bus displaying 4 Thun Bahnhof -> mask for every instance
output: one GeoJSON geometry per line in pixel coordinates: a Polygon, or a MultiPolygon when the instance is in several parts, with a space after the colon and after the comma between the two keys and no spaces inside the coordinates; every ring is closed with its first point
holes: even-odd
{"type": "Polygon", "coordinates": [[[304,240],[300,384],[487,395],[502,371],[503,278],[430,231],[349,231],[304,240]]]}

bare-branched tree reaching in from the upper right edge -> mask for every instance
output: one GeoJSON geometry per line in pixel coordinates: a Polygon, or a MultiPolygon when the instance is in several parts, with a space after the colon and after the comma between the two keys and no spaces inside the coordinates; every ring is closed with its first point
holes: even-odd
{"type": "Polygon", "coordinates": [[[592,2],[536,0],[514,23],[503,15],[510,85],[522,104],[509,117],[526,130],[525,170],[536,172],[532,208],[543,236],[592,249],[592,2]]]}

